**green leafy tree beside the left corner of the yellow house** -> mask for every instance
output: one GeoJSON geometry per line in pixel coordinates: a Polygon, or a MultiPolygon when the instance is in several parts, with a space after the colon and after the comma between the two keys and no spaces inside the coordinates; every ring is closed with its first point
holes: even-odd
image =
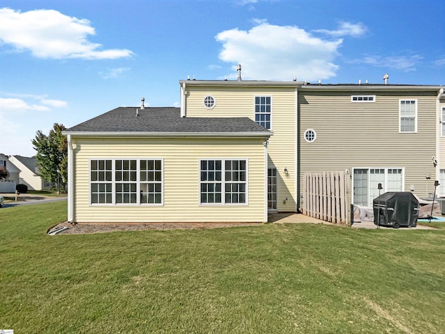
{"type": "Polygon", "coordinates": [[[37,151],[35,159],[39,166],[39,175],[48,182],[60,182],[65,189],[67,184],[67,137],[62,134],[66,127],[54,123],[47,136],[40,130],[33,139],[34,150],[37,151]]]}

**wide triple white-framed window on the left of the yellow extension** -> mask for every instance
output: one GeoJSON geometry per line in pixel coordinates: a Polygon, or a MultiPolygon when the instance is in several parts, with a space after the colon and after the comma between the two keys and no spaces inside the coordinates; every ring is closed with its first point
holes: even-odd
{"type": "Polygon", "coordinates": [[[163,205],[163,159],[90,159],[90,205],[163,205]]]}

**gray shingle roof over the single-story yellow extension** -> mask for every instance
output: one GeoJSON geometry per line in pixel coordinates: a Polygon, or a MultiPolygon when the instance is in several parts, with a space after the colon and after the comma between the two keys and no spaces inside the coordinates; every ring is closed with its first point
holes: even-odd
{"type": "Polygon", "coordinates": [[[250,118],[185,118],[174,107],[119,107],[75,125],[64,132],[156,132],[156,133],[236,133],[254,132],[270,135],[250,118]]]}

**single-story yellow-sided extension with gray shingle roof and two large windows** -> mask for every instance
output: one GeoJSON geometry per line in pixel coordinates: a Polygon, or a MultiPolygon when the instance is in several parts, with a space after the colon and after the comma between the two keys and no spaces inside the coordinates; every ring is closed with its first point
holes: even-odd
{"type": "Polygon", "coordinates": [[[249,118],[118,108],[63,132],[68,221],[267,221],[267,141],[249,118]]]}

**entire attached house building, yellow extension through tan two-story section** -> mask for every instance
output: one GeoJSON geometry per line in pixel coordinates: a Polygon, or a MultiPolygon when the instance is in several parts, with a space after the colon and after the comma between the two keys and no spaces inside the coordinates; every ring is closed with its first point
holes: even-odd
{"type": "Polygon", "coordinates": [[[425,197],[445,179],[441,86],[179,84],[180,109],[118,108],[64,132],[69,221],[267,221],[300,209],[309,171],[347,170],[364,206],[379,183],[425,197]]]}

